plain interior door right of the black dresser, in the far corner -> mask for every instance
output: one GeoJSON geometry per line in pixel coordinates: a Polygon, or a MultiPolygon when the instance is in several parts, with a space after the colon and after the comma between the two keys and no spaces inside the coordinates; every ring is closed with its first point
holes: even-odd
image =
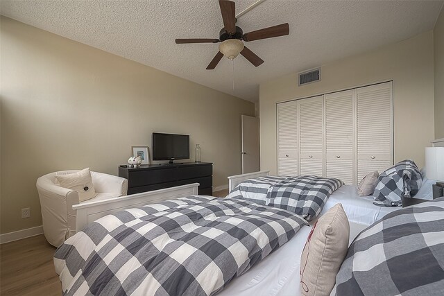
{"type": "Polygon", "coordinates": [[[260,170],[259,165],[259,118],[241,116],[242,120],[242,173],[260,170]]]}

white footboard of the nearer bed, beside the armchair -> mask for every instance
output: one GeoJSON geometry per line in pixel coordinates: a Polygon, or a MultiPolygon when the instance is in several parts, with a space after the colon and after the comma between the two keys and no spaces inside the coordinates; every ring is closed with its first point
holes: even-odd
{"type": "Polygon", "coordinates": [[[183,198],[189,195],[198,194],[198,183],[171,187],[136,193],[132,195],[120,196],[119,198],[109,198],[96,202],[82,202],[75,204],[72,208],[76,211],[76,232],[80,232],[85,226],[93,221],[123,209],[142,207],[145,204],[155,204],[164,200],[183,198]]]}

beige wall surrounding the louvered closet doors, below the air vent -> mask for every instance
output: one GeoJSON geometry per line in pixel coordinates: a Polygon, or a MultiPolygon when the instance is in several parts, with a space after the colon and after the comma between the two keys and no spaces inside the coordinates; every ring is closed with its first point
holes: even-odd
{"type": "Polygon", "coordinates": [[[298,87],[292,73],[260,85],[261,170],[276,173],[276,102],[393,80],[395,161],[424,165],[434,139],[433,33],[323,65],[320,82],[298,87]]]}

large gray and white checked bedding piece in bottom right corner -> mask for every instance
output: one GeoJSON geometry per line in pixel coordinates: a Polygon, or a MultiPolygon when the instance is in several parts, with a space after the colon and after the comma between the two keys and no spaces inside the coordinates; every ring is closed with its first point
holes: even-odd
{"type": "Polygon", "coordinates": [[[350,245],[336,295],[444,295],[444,198],[387,214],[350,245]]]}

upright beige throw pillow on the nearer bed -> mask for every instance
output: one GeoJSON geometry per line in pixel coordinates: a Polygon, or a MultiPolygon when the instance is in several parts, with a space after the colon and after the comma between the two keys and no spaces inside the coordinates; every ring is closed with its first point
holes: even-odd
{"type": "Polygon", "coordinates": [[[300,259],[302,295],[330,295],[348,250],[350,225],[336,204],[311,229],[300,259]]]}

